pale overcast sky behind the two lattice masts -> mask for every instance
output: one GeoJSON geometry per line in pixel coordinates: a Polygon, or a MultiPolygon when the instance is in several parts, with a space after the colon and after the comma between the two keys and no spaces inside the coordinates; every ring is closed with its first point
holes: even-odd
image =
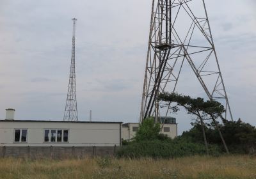
{"type": "MultiPolygon", "coordinates": [[[[256,2],[205,3],[234,119],[256,125],[256,2]]],[[[0,119],[7,108],[17,120],[63,119],[76,17],[79,120],[88,121],[92,110],[94,121],[137,122],[151,6],[148,0],[1,0],[0,119]]],[[[192,71],[181,75],[179,88],[202,91],[195,80],[192,71]]],[[[176,118],[179,134],[191,128],[191,116],[176,118]]]]}

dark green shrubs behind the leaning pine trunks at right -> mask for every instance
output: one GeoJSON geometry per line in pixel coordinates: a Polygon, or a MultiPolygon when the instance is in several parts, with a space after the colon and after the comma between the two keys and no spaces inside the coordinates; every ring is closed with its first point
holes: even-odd
{"type": "MultiPolygon", "coordinates": [[[[244,123],[240,119],[237,121],[225,120],[220,124],[220,130],[232,153],[248,153],[250,148],[256,148],[256,128],[249,123],[244,123]]],[[[182,139],[189,139],[193,143],[203,143],[201,127],[198,123],[193,123],[193,128],[183,132],[182,139]]],[[[207,141],[210,144],[220,145],[221,139],[218,130],[211,125],[205,127],[207,141]]]]}

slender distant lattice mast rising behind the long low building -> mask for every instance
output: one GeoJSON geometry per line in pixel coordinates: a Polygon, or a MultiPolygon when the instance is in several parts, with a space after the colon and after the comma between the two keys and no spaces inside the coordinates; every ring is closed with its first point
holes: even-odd
{"type": "Polygon", "coordinates": [[[75,58],[75,42],[76,42],[76,18],[73,18],[73,36],[72,36],[72,56],[68,83],[67,102],[64,113],[64,121],[78,121],[77,102],[76,102],[76,58],[75,58]]]}

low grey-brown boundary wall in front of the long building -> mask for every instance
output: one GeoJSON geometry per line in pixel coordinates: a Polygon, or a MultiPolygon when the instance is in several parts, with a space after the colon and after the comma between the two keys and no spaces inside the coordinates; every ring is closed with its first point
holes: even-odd
{"type": "Polygon", "coordinates": [[[65,159],[114,157],[120,146],[0,146],[0,157],[65,159]]]}

